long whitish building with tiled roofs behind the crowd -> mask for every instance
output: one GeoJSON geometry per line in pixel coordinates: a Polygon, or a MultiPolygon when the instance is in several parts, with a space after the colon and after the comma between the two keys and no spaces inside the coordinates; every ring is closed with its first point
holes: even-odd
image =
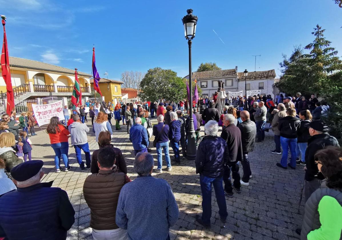
{"type": "MultiPolygon", "coordinates": [[[[276,77],[275,70],[248,72],[247,91],[260,90],[261,94],[271,94],[274,97],[274,79],[276,77]]],[[[189,75],[185,77],[189,79],[189,75]]],[[[213,96],[218,90],[218,81],[224,82],[224,89],[228,94],[230,92],[242,91],[245,95],[245,77],[243,72],[235,69],[225,69],[216,71],[193,72],[192,79],[196,79],[202,90],[202,97],[213,96]]]]}

